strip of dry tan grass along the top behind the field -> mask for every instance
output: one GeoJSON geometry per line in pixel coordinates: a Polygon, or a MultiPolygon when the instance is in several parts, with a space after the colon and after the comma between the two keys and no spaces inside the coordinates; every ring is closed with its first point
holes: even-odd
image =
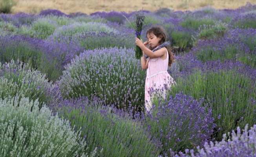
{"type": "Polygon", "coordinates": [[[58,9],[66,14],[96,11],[132,12],[139,9],[155,11],[161,7],[173,8],[174,11],[195,10],[210,5],[215,9],[236,9],[256,0],[17,0],[13,13],[39,13],[45,9],[58,9]]]}

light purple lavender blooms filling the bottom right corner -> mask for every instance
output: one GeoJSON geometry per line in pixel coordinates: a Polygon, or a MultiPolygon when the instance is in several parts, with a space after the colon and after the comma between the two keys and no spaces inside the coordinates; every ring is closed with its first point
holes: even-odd
{"type": "Polygon", "coordinates": [[[220,142],[205,143],[203,148],[186,150],[185,153],[175,153],[170,150],[172,157],[255,157],[256,125],[248,130],[248,124],[244,130],[238,127],[232,133],[224,134],[220,142]]]}

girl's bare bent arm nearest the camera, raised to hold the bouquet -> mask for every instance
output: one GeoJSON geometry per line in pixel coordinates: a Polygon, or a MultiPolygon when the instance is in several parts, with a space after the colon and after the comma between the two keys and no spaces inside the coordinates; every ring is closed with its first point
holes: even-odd
{"type": "Polygon", "coordinates": [[[158,58],[158,57],[162,57],[163,55],[165,55],[166,53],[166,49],[159,49],[155,52],[153,52],[152,50],[148,49],[148,47],[146,47],[141,40],[139,40],[139,38],[136,37],[135,39],[135,44],[137,46],[139,46],[142,51],[149,57],[149,58],[158,58]]]}

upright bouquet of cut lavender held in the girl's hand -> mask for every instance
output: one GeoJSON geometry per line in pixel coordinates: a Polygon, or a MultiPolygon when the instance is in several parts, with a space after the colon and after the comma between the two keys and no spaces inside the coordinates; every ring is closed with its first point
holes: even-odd
{"type": "MultiPolygon", "coordinates": [[[[136,32],[135,34],[136,34],[137,38],[139,38],[140,40],[141,40],[141,31],[144,26],[144,18],[145,18],[145,16],[144,16],[143,10],[135,11],[135,20],[134,20],[135,27],[133,27],[133,25],[126,18],[128,20],[128,22],[132,25],[133,29],[135,29],[135,32],[136,32]]],[[[135,58],[140,59],[142,56],[143,56],[143,52],[142,52],[141,48],[139,46],[136,46],[135,47],[135,58]]]]}

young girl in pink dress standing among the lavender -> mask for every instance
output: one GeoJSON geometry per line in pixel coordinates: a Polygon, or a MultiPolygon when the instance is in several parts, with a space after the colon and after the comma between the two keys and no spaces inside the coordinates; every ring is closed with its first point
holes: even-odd
{"type": "Polygon", "coordinates": [[[152,104],[150,102],[150,91],[161,89],[165,85],[170,87],[176,82],[168,74],[167,68],[174,62],[174,55],[171,52],[168,42],[166,42],[165,31],[160,26],[154,26],[148,29],[148,41],[142,43],[139,38],[135,38],[135,44],[143,51],[141,57],[141,68],[147,69],[145,84],[145,107],[150,111],[152,104]],[[147,45],[149,44],[149,47],[147,45]],[[157,49],[157,50],[156,50],[157,49]],[[155,51],[156,50],[156,51],[155,51]],[[145,56],[146,55],[146,56],[145,56]]]}

